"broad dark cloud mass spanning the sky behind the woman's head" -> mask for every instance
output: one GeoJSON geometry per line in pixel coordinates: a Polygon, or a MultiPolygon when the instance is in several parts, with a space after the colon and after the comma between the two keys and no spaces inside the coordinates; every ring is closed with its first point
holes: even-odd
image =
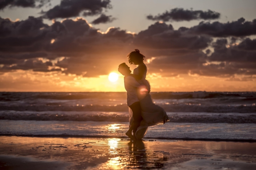
{"type": "Polygon", "coordinates": [[[22,69],[97,77],[117,71],[126,55],[139,48],[149,61],[149,74],[216,76],[233,81],[256,75],[255,39],[213,41],[190,28],[174,29],[161,22],[130,34],[114,27],[103,33],[83,18],[52,25],[35,17],[16,22],[0,18],[0,72],[22,69]]]}

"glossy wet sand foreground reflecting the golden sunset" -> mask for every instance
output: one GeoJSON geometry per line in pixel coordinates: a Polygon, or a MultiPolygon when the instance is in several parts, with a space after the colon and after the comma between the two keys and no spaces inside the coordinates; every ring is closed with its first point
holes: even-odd
{"type": "Polygon", "coordinates": [[[256,143],[0,136],[0,169],[254,170],[256,143]]]}

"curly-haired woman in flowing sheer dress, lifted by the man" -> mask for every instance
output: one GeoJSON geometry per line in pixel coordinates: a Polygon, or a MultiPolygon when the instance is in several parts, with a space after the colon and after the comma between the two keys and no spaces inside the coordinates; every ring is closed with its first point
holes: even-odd
{"type": "MultiPolygon", "coordinates": [[[[142,139],[146,135],[147,128],[149,126],[164,124],[169,121],[169,118],[162,107],[155,105],[151,95],[149,94],[150,84],[149,81],[146,80],[147,67],[143,62],[145,56],[141,54],[138,49],[135,49],[135,51],[132,51],[127,55],[127,58],[130,64],[138,65],[138,67],[133,70],[133,74],[131,74],[131,76],[133,76],[139,84],[145,85],[145,90],[143,92],[138,92],[138,98],[141,105],[141,116],[143,120],[134,135],[137,139],[142,139]]],[[[133,127],[134,121],[132,116],[133,112],[129,109],[130,128],[126,132],[127,136],[131,136],[131,128],[133,127]]]]}

